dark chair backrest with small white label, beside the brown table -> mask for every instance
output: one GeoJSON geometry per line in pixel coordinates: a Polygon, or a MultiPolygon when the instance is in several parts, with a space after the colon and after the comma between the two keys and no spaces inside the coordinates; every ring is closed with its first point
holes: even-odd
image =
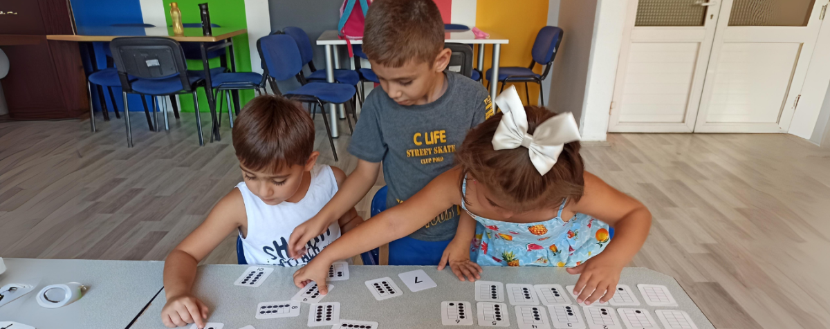
{"type": "Polygon", "coordinates": [[[110,42],[115,67],[125,91],[132,91],[127,75],[164,79],[178,75],[185,91],[193,91],[182,46],[166,37],[120,37],[110,42]]]}

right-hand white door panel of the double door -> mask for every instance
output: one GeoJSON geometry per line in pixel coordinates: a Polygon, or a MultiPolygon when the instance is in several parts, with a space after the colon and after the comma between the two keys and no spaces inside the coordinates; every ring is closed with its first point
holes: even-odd
{"type": "Polygon", "coordinates": [[[785,133],[828,0],[723,0],[696,133],[785,133]]]}

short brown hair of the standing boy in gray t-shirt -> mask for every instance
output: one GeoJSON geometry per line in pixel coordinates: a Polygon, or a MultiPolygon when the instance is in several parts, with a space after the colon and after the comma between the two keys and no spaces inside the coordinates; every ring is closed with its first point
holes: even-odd
{"type": "Polygon", "coordinates": [[[432,66],[444,49],[444,22],[432,0],[376,0],[369,6],[363,50],[381,65],[415,59],[432,66]]]}

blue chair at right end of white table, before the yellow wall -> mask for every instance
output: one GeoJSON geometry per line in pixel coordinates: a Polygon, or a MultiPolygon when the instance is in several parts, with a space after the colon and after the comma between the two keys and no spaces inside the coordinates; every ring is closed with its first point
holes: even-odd
{"type": "MultiPolygon", "coordinates": [[[[541,91],[542,80],[548,76],[550,65],[554,63],[556,53],[559,51],[559,44],[562,43],[562,35],[563,31],[559,27],[542,27],[539,34],[536,35],[536,41],[533,43],[531,51],[531,57],[533,57],[533,59],[530,60],[530,65],[528,67],[507,66],[499,68],[499,76],[496,80],[501,83],[501,90],[505,90],[505,85],[507,85],[508,82],[524,82],[525,97],[527,97],[527,103],[530,104],[530,93],[527,91],[527,83],[535,82],[539,84],[541,91]],[[533,68],[537,63],[544,66],[544,71],[541,75],[538,75],[533,71],[533,68]]],[[[491,81],[493,80],[491,75],[493,75],[493,69],[485,72],[488,89],[491,81]]],[[[542,92],[539,93],[539,97],[541,99],[540,106],[544,106],[543,94],[544,93],[542,92]]]]}

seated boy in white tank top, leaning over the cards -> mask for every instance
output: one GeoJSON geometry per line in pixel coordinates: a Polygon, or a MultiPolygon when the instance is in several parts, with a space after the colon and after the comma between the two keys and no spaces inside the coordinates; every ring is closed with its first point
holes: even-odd
{"type": "Polygon", "coordinates": [[[345,173],[316,164],[314,122],[299,104],[280,96],[251,100],[237,117],[233,148],[243,181],[222,197],[207,219],[167,256],[161,319],[167,327],[196,323],[203,328],[208,308],[191,293],[196,265],[227,235],[238,232],[248,264],[305,265],[340,232],[363,222],[352,208],[306,244],[292,259],[288,239],[297,225],[330,201],[345,173]]]}

